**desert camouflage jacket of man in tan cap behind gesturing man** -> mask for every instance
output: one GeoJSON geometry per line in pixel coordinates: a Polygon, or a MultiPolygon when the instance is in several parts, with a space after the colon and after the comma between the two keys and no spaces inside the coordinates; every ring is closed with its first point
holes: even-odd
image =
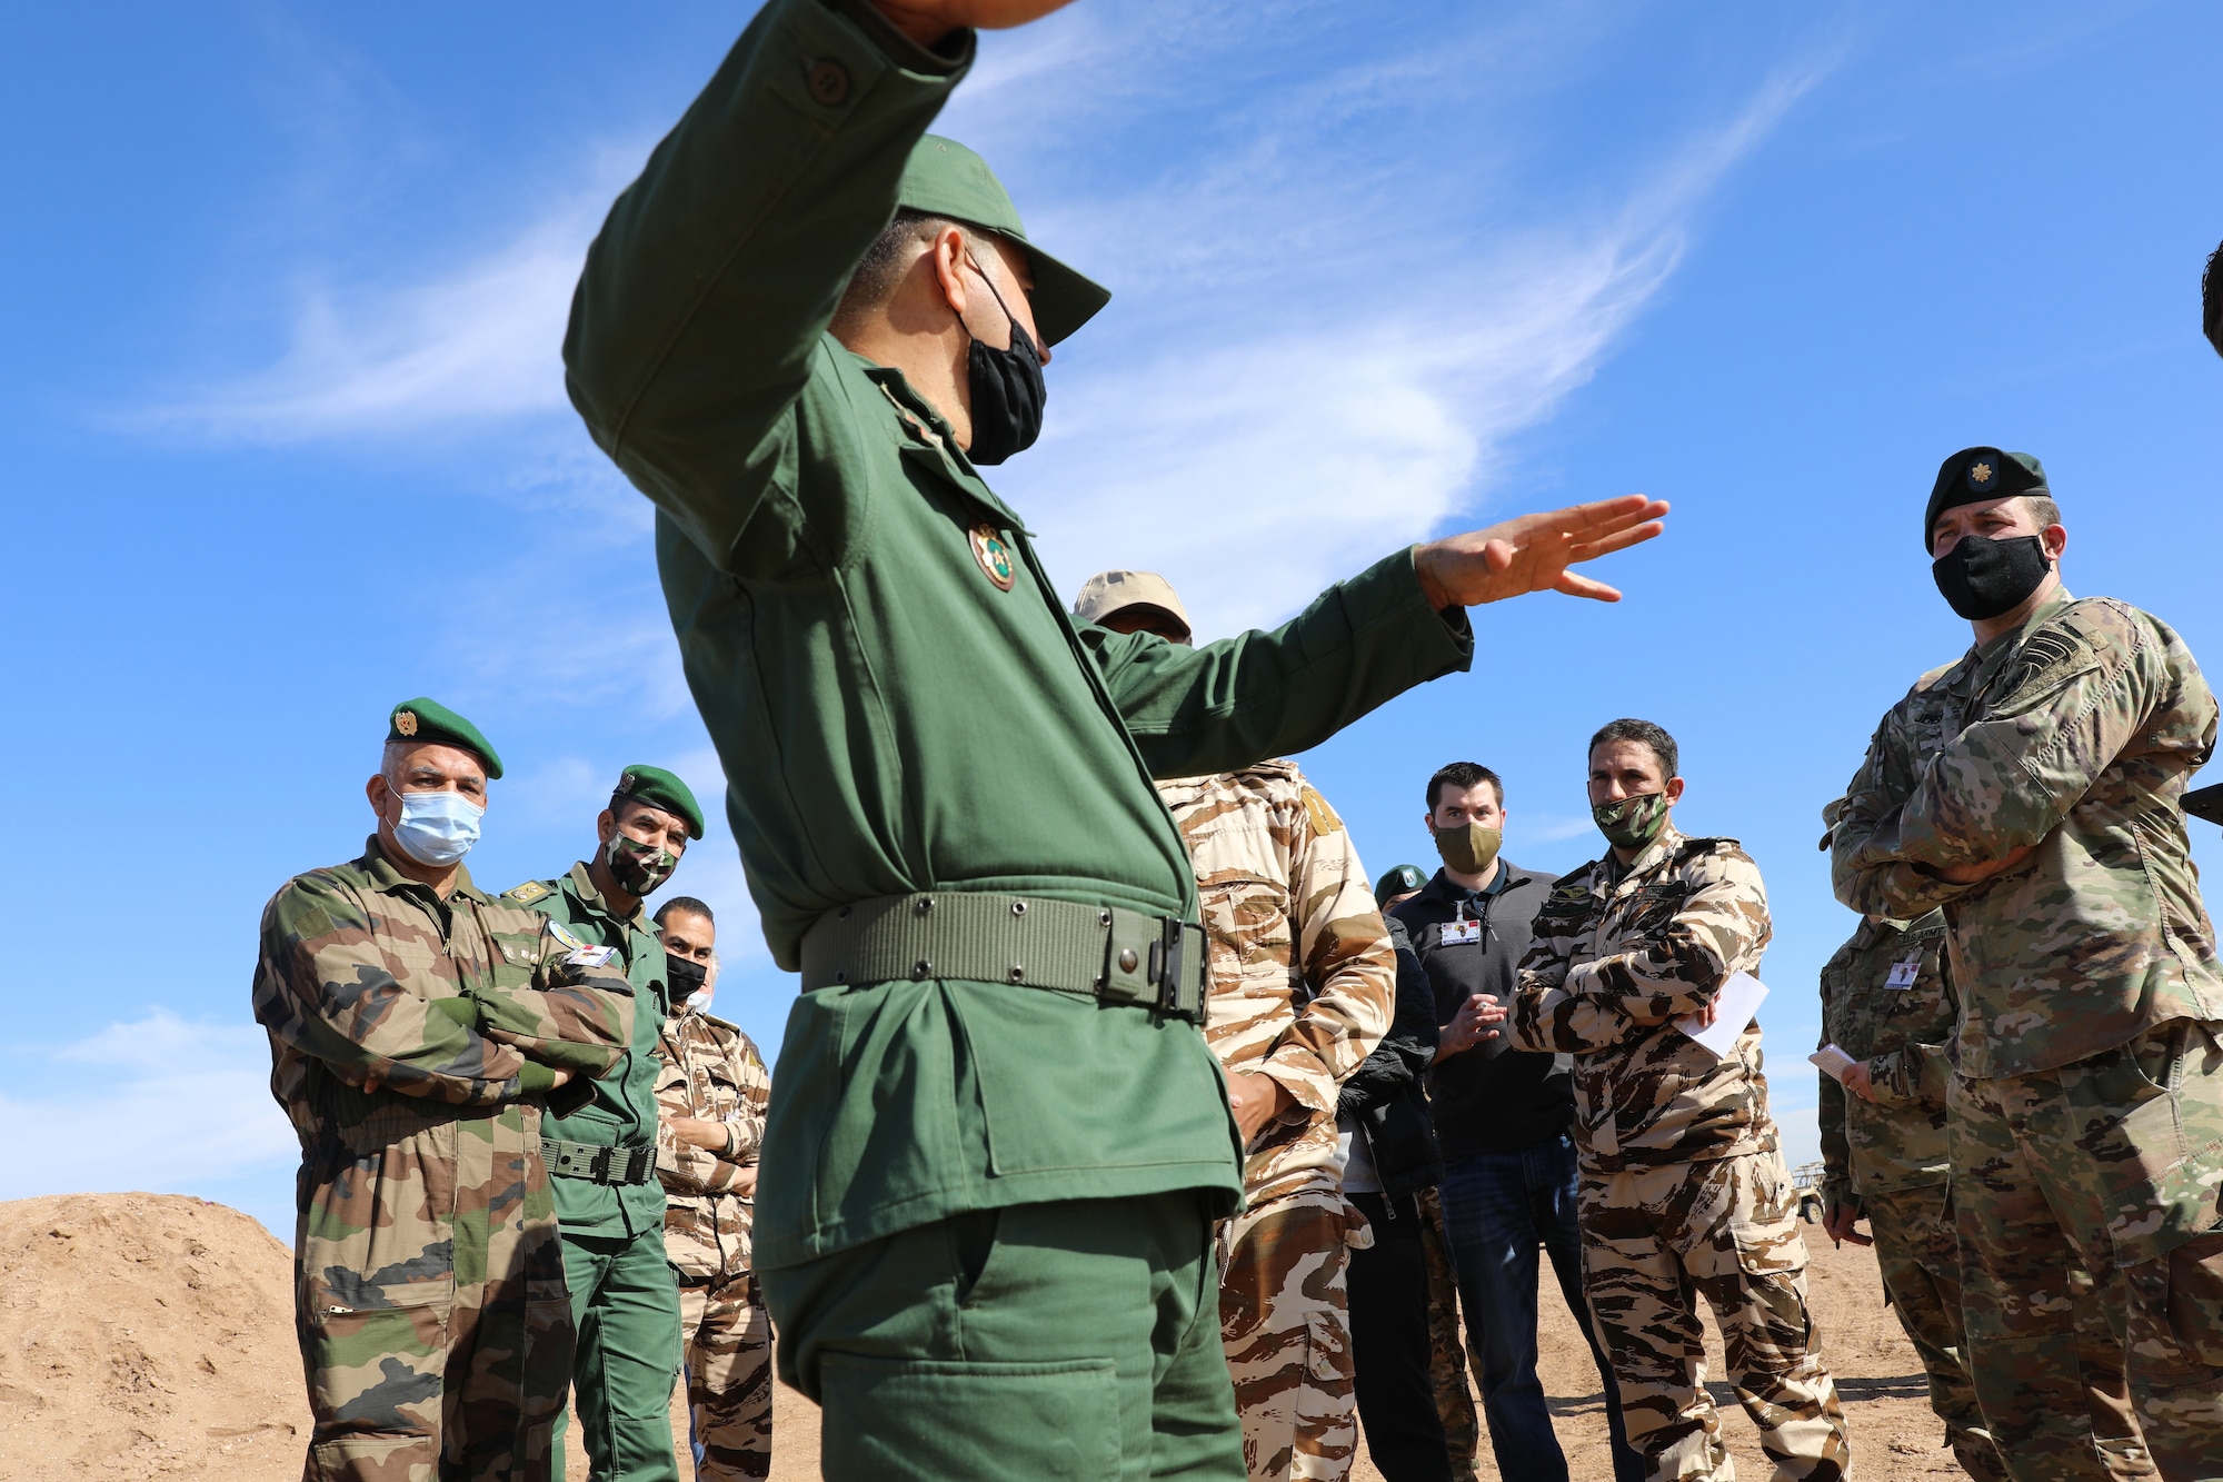
{"type": "Polygon", "coordinates": [[[1389,1033],[1396,950],[1352,834],[1294,761],[1160,781],[1196,866],[1212,990],[1205,1044],[1296,1106],[1243,1164],[1252,1204],[1340,1190],[1336,1093],[1389,1033]]]}

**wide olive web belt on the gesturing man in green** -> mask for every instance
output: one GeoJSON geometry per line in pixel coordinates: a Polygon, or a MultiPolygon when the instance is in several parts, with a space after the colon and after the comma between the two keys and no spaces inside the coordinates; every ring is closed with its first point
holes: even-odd
{"type": "Polygon", "coordinates": [[[803,935],[803,988],[943,977],[1205,1021],[1205,932],[1178,917],[1018,895],[880,895],[803,935]]]}

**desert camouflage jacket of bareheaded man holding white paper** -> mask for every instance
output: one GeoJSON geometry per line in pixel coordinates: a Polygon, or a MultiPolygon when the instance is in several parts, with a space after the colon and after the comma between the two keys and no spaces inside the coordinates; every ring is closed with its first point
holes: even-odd
{"type": "Polygon", "coordinates": [[[1767,890],[1736,839],[1661,832],[1552,886],[1521,961],[1509,1039],[1574,1055],[1574,1142],[1592,1173],[1767,1153],[1776,1124],[1761,1026],[1723,1059],[1669,1019],[1705,1008],[1729,972],[1758,975],[1767,890]]]}

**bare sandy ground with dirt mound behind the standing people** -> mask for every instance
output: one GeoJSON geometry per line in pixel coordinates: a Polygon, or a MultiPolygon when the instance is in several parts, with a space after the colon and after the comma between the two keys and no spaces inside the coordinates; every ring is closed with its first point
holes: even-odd
{"type": "MultiPolygon", "coordinates": [[[[1921,1364],[1883,1308],[1874,1257],[1818,1233],[1814,1313],[1838,1375],[1861,1482],[1956,1475],[1921,1364]]],[[[1605,1478],[1598,1375],[1545,1297],[1543,1380],[1576,1478],[1605,1478]]],[[[1721,1373],[1714,1346],[1709,1375],[1721,1373]]],[[[53,1195],[0,1204],[0,1482],[222,1478],[291,1482],[309,1431],[293,1353],[291,1259],[238,1211],[180,1195],[53,1195]]],[[[1767,1478],[1727,1386],[1738,1473],[1767,1478]]],[[[685,1415],[674,1406],[678,1433],[685,1415]]],[[[774,1478],[818,1475],[818,1411],[780,1391],[774,1478]]],[[[1487,1444],[1485,1444],[1487,1451],[1487,1444]]],[[[574,1440],[571,1478],[585,1478],[574,1440]]],[[[680,1475],[691,1475],[682,1466],[680,1475]]],[[[1378,1482],[1360,1455],[1354,1473],[1378,1482]]],[[[1498,1478],[1483,1458],[1483,1478],[1498,1478]]]]}

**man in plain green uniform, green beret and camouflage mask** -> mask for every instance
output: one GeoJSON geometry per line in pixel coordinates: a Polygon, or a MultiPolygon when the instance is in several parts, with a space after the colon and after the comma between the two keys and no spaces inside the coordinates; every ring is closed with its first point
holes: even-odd
{"type": "MultiPolygon", "coordinates": [[[[656,1039],[671,984],[642,897],[671,879],[702,810],[671,772],[631,765],[594,821],[594,859],[502,897],[556,930],[616,955],[640,1012],[625,1059],[587,1106],[549,1117],[540,1150],[556,1179],[562,1266],[578,1324],[571,1384],[594,1478],[678,1482],[671,1384],[680,1369],[680,1295],[665,1262],[665,1186],[656,1177],[656,1039]]],[[[562,1422],[556,1426],[562,1475],[562,1422]]]]}

